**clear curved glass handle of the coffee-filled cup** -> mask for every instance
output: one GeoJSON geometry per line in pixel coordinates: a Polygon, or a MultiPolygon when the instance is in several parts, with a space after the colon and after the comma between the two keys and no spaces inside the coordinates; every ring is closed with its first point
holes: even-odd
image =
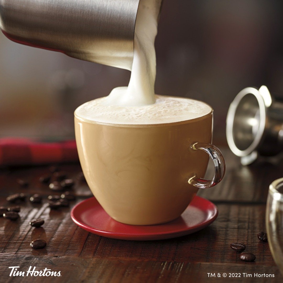
{"type": "Polygon", "coordinates": [[[212,159],[214,164],[214,177],[212,180],[206,180],[199,178],[196,174],[189,178],[188,183],[197,188],[206,189],[217,185],[224,177],[225,174],[225,161],[221,151],[212,144],[209,143],[194,143],[190,146],[192,150],[205,151],[212,159]]]}

